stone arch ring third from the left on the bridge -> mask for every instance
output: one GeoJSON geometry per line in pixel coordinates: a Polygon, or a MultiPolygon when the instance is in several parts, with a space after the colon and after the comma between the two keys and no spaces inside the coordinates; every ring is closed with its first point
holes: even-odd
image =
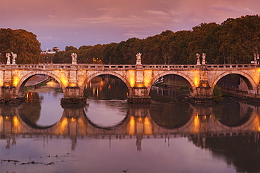
{"type": "MultiPolygon", "coordinates": [[[[162,72],[160,74],[157,74],[155,75],[152,80],[151,80],[151,83],[150,83],[150,88],[152,86],[152,83],[155,83],[155,81],[162,77],[162,76],[165,76],[165,75],[169,75],[169,74],[173,74],[173,75],[178,75],[178,76],[181,76],[183,77],[186,81],[187,81],[187,84],[188,84],[188,88],[190,88],[190,95],[196,95],[197,94],[197,91],[196,91],[196,86],[195,86],[195,83],[193,82],[193,80],[187,76],[186,74],[183,74],[181,72],[178,72],[178,71],[165,71],[165,72],[162,72]]],[[[150,92],[150,88],[149,88],[149,92],[150,92]]]]}

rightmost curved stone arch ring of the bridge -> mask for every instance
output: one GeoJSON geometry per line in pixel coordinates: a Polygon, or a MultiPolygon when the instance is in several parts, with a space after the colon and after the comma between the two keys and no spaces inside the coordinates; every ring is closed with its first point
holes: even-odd
{"type": "Polygon", "coordinates": [[[223,72],[222,74],[220,74],[219,76],[217,76],[212,85],[211,85],[211,90],[213,91],[214,90],[214,87],[216,85],[216,83],[219,82],[219,80],[221,80],[221,78],[223,78],[224,76],[227,76],[229,74],[238,74],[239,76],[242,76],[244,78],[246,78],[248,80],[249,83],[247,83],[247,86],[249,88],[249,90],[254,90],[256,92],[257,90],[257,85],[256,83],[254,82],[254,79],[249,76],[249,74],[246,74],[245,72],[243,71],[227,71],[227,72],[223,72]]]}

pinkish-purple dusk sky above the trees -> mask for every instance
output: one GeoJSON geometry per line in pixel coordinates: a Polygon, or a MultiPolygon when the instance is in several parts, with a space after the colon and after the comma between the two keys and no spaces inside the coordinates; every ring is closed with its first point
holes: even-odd
{"type": "Polygon", "coordinates": [[[0,27],[36,34],[42,50],[145,39],[256,14],[259,0],[0,0],[0,27]]]}

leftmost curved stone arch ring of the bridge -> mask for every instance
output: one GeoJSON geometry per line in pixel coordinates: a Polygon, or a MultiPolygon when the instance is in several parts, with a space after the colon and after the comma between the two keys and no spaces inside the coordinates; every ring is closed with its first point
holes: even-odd
{"type": "Polygon", "coordinates": [[[56,81],[58,81],[58,83],[60,84],[60,87],[63,89],[63,92],[65,91],[65,86],[63,85],[63,82],[60,80],[60,78],[58,76],[56,76],[55,74],[52,74],[48,71],[32,71],[29,74],[26,74],[25,76],[22,76],[20,78],[20,81],[18,81],[18,96],[22,95],[22,89],[25,87],[25,83],[32,77],[35,75],[41,75],[44,74],[46,76],[51,76],[52,78],[55,78],[56,81]]]}

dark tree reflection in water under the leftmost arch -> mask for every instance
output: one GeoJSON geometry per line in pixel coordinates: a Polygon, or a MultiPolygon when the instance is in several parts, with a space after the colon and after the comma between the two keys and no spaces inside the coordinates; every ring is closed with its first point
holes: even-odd
{"type": "Polygon", "coordinates": [[[41,116],[41,99],[38,92],[28,92],[27,100],[22,104],[23,113],[31,123],[37,123],[41,116]]]}

